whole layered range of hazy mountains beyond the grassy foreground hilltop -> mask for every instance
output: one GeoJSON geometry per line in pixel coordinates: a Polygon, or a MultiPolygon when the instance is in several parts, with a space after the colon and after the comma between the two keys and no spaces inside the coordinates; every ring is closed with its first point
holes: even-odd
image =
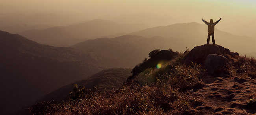
{"type": "MultiPolygon", "coordinates": [[[[36,16],[40,18],[32,17],[36,16]]],[[[7,17],[12,15],[1,19],[7,17]]],[[[97,19],[69,26],[42,24],[17,32],[20,35],[0,31],[0,91],[4,92],[0,112],[9,114],[30,106],[42,96],[78,80],[88,81],[104,69],[133,68],[152,50],[184,52],[206,43],[207,26],[196,22],[153,28],[117,22],[97,19]]],[[[256,40],[216,29],[215,42],[240,53],[254,52],[256,40]]]]}

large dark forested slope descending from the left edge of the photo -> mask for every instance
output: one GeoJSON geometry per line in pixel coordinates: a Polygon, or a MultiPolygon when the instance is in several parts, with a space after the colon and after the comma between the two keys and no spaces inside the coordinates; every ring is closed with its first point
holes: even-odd
{"type": "Polygon", "coordinates": [[[0,31],[0,114],[28,106],[50,91],[105,69],[97,57],[103,58],[0,31]]]}

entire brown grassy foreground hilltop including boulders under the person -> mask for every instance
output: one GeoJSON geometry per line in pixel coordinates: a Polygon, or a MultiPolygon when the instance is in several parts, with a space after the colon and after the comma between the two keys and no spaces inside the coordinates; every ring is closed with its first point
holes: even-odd
{"type": "MultiPolygon", "coordinates": [[[[90,95],[80,92],[81,98],[69,102],[41,102],[33,105],[30,112],[53,115],[253,115],[256,113],[256,60],[222,49],[225,48],[219,45],[197,46],[170,57],[170,61],[157,68],[147,68],[143,63],[149,60],[145,60],[138,66],[147,69],[130,76],[126,85],[119,89],[90,92],[90,95]],[[205,51],[210,53],[202,54],[205,51]],[[196,54],[199,56],[195,57],[196,54]],[[190,58],[193,58],[191,63],[187,63],[190,58]]],[[[150,60],[158,54],[162,53],[156,53],[150,60]]]]}

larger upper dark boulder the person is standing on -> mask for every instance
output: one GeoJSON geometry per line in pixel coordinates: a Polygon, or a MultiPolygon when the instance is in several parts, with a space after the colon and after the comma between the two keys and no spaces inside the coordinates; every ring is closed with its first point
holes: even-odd
{"type": "Polygon", "coordinates": [[[182,59],[182,63],[185,65],[191,65],[191,63],[203,65],[209,54],[230,54],[230,50],[220,45],[196,46],[182,59]]]}

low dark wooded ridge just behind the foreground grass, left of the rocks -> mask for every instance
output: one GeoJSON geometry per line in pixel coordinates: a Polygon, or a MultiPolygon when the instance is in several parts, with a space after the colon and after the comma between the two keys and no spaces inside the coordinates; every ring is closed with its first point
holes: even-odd
{"type": "Polygon", "coordinates": [[[88,79],[79,80],[68,85],[62,86],[55,91],[43,96],[39,101],[51,101],[56,100],[61,102],[62,100],[69,100],[69,93],[73,91],[74,85],[78,85],[81,88],[92,89],[96,87],[99,91],[109,91],[113,88],[119,88],[123,82],[126,82],[128,76],[131,76],[132,69],[123,69],[123,68],[111,68],[104,69],[88,79]]]}

